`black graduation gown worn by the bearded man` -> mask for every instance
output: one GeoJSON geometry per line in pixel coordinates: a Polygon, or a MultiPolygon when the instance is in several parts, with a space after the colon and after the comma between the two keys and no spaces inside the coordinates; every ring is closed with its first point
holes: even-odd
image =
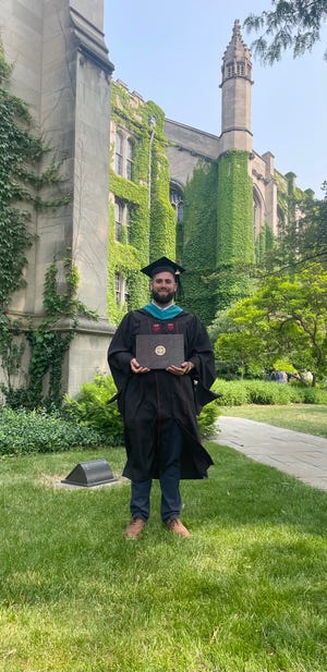
{"type": "Polygon", "coordinates": [[[175,421],[183,436],[181,478],[206,478],[213,460],[201,444],[196,415],[216,398],[209,391],[216,372],[211,343],[202,322],[184,310],[168,320],[155,318],[144,308],[131,310],[113,335],[108,363],[124,420],[128,462],[123,475],[135,481],[158,478],[160,429],[164,423],[175,421]],[[158,332],[184,334],[184,358],[195,365],[190,374],[173,376],[161,369],[140,375],[131,371],[136,334],[158,332]]]}

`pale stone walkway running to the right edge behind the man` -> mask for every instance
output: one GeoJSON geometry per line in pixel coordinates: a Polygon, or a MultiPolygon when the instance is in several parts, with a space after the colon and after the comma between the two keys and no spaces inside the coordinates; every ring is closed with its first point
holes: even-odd
{"type": "Polygon", "coordinates": [[[327,491],[327,439],[221,416],[217,442],[327,491]]]}

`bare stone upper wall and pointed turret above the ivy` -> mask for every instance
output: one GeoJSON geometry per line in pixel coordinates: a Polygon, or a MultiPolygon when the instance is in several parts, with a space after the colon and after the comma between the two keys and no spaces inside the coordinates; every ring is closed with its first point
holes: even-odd
{"type": "MultiPolygon", "coordinates": [[[[275,157],[270,151],[259,156],[253,148],[251,131],[251,53],[244,44],[240,22],[235,21],[232,38],[225,51],[221,66],[221,134],[219,137],[197,129],[166,120],[165,130],[171,146],[167,154],[171,181],[183,192],[198,158],[217,160],[232,149],[246,151],[249,174],[253,181],[254,232],[257,235],[267,222],[278,234],[278,200],[275,157]]],[[[281,181],[287,187],[287,179],[281,181]]]]}

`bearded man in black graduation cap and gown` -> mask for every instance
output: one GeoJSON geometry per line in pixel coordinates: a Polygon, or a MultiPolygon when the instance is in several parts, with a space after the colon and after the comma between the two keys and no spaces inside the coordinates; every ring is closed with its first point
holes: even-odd
{"type": "Polygon", "coordinates": [[[180,479],[207,478],[213,464],[201,444],[196,415],[216,396],[209,391],[216,377],[215,359],[202,322],[173,303],[183,271],[167,257],[142,269],[150,278],[152,303],[125,315],[108,350],[124,420],[128,462],[123,475],[132,481],[132,520],[124,533],[130,539],[141,536],[149,517],[153,478],[160,481],[164,524],[189,537],[180,521],[180,479]],[[146,334],[183,334],[181,362],[166,368],[138,362],[137,337],[146,334]]]}

